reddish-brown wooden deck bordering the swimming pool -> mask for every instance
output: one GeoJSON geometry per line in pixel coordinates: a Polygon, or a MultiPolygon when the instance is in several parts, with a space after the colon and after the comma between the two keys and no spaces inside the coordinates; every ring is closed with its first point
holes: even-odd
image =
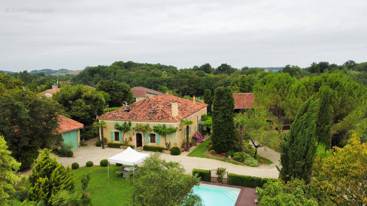
{"type": "Polygon", "coordinates": [[[237,201],[235,203],[235,206],[254,206],[256,205],[255,199],[257,199],[257,194],[256,194],[255,188],[240,187],[240,186],[229,185],[229,184],[210,183],[210,182],[204,182],[204,181],[201,183],[241,189],[240,194],[238,195],[237,201]]]}

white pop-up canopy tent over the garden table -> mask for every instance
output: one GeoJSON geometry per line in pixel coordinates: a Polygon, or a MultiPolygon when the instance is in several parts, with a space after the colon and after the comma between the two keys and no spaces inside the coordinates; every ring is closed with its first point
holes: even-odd
{"type": "Polygon", "coordinates": [[[149,154],[140,153],[133,150],[131,147],[127,147],[125,151],[108,158],[107,177],[109,177],[110,162],[120,163],[123,165],[137,165],[139,162],[143,161],[147,157],[149,157],[149,154]]]}

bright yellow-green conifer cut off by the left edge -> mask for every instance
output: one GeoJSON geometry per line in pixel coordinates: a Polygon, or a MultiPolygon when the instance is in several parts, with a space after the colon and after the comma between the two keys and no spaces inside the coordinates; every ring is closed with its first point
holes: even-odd
{"type": "Polygon", "coordinates": [[[15,161],[10,154],[4,137],[0,135],[0,203],[14,192],[14,182],[19,179],[15,172],[18,171],[21,163],[15,161]]]}

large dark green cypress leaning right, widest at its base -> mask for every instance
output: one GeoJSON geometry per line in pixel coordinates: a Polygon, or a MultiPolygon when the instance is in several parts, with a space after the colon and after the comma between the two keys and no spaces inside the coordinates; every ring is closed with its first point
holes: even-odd
{"type": "Polygon", "coordinates": [[[315,113],[317,102],[309,98],[299,108],[280,155],[280,177],[285,182],[291,177],[310,181],[316,151],[315,113]]]}

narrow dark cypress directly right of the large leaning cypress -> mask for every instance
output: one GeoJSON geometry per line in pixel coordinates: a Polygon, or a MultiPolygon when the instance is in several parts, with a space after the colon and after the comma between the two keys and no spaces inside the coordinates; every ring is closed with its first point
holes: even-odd
{"type": "Polygon", "coordinates": [[[325,144],[330,147],[330,122],[331,122],[331,105],[330,96],[331,90],[329,86],[320,87],[318,96],[320,97],[319,110],[316,116],[316,140],[319,143],[325,144]]]}

